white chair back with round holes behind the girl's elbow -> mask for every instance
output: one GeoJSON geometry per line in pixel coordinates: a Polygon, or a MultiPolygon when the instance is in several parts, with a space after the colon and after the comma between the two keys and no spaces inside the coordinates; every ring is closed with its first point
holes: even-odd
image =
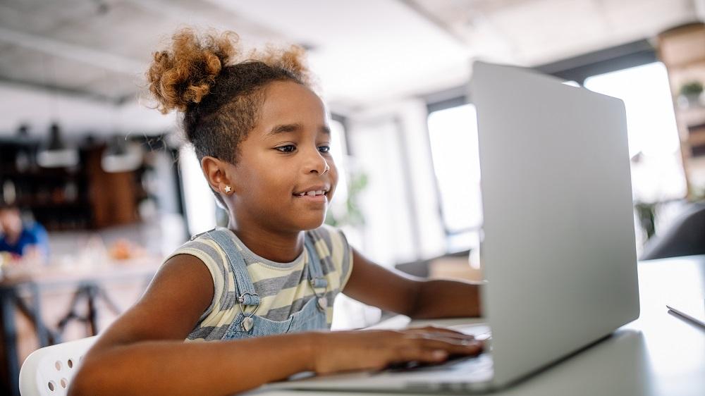
{"type": "Polygon", "coordinates": [[[20,369],[20,395],[66,395],[78,363],[97,337],[63,342],[32,352],[20,369]]]}

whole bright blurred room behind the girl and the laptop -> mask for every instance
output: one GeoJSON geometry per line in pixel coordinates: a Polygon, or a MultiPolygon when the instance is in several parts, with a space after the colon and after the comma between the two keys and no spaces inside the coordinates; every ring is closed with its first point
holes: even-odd
{"type": "MultiPolygon", "coordinates": [[[[479,280],[474,59],[623,99],[640,258],[705,252],[704,20],[705,0],[0,0],[4,386],[226,223],[176,116],[144,97],[179,27],[305,47],[342,175],[326,223],[381,265],[479,280]]],[[[335,328],[384,314],[336,305],[335,328]]]]}

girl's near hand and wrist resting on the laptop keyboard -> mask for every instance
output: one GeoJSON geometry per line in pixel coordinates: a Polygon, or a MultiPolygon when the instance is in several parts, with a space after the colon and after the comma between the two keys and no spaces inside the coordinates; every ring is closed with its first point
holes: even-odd
{"type": "Polygon", "coordinates": [[[312,371],[318,374],[381,370],[407,361],[441,363],[453,355],[477,355],[482,342],[446,328],[353,330],[320,333],[312,338],[312,371]]]}

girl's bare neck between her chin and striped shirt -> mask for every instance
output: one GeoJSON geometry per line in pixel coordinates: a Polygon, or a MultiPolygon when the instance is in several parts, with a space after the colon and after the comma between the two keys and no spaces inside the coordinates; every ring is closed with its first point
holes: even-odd
{"type": "Polygon", "coordinates": [[[228,228],[257,256],[277,263],[294,261],[304,249],[304,231],[291,234],[271,233],[261,228],[238,228],[232,223],[228,228]]]}

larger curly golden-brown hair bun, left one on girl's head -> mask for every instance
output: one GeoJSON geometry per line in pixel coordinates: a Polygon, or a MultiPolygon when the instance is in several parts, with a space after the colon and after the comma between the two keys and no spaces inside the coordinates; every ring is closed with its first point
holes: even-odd
{"type": "Polygon", "coordinates": [[[154,53],[147,70],[149,92],[157,99],[157,109],[168,113],[185,111],[209,94],[216,77],[238,51],[235,32],[207,33],[198,37],[185,28],[172,37],[171,48],[154,53]]]}

